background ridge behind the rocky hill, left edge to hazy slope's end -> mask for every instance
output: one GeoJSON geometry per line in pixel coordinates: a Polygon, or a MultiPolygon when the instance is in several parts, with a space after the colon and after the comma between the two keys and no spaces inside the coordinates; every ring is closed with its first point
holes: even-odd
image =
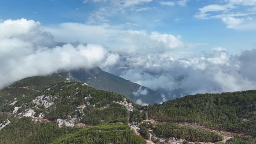
{"type": "Polygon", "coordinates": [[[50,85],[65,81],[85,82],[91,87],[116,92],[125,95],[126,98],[134,102],[143,101],[146,104],[154,104],[162,101],[160,92],[155,92],[116,75],[95,69],[72,70],[70,72],[59,72],[46,76],[33,76],[14,82],[7,88],[0,90],[0,105],[5,104],[10,99],[21,97],[29,93],[41,91],[50,85]],[[10,99],[9,99],[10,98],[10,99]],[[139,100],[139,101],[138,101],[139,100]]]}

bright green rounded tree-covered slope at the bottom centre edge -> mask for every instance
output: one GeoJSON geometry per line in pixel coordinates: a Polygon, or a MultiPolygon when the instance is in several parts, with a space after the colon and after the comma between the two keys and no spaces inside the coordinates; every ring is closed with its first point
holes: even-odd
{"type": "Polygon", "coordinates": [[[145,144],[126,124],[103,124],[58,138],[53,144],[145,144]]]}

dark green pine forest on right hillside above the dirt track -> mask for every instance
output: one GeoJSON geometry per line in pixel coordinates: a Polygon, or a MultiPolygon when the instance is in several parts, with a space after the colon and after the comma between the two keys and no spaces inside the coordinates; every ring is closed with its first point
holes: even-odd
{"type": "Polygon", "coordinates": [[[142,109],[157,121],[197,123],[256,138],[256,90],[188,95],[142,109]]]}

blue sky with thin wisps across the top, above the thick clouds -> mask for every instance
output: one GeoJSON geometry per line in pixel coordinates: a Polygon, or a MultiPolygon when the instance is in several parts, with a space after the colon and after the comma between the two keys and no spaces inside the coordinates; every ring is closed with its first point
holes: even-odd
{"type": "Polygon", "coordinates": [[[180,35],[184,42],[204,43],[185,50],[195,54],[219,46],[235,54],[256,47],[255,0],[127,1],[129,0],[1,0],[0,19],[25,18],[39,21],[46,27],[67,22],[96,26],[108,24],[109,27],[125,25],[121,29],[180,35]],[[206,7],[206,13],[210,16],[230,13],[244,15],[203,17],[200,16],[200,8],[203,7],[206,7]],[[243,23],[232,26],[236,22],[230,20],[231,26],[228,27],[223,20],[226,17],[241,19],[243,23]]]}

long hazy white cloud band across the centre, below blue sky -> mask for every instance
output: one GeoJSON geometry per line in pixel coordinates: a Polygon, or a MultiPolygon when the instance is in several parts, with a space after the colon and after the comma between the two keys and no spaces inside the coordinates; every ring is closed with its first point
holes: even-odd
{"type": "Polygon", "coordinates": [[[151,32],[145,30],[125,30],[124,26],[135,25],[89,25],[82,23],[61,23],[45,27],[56,41],[82,43],[97,43],[106,46],[108,50],[122,53],[163,53],[174,49],[184,49],[206,43],[184,42],[181,36],[169,33],[151,32]],[[69,33],[68,35],[66,33],[69,33]]]}

